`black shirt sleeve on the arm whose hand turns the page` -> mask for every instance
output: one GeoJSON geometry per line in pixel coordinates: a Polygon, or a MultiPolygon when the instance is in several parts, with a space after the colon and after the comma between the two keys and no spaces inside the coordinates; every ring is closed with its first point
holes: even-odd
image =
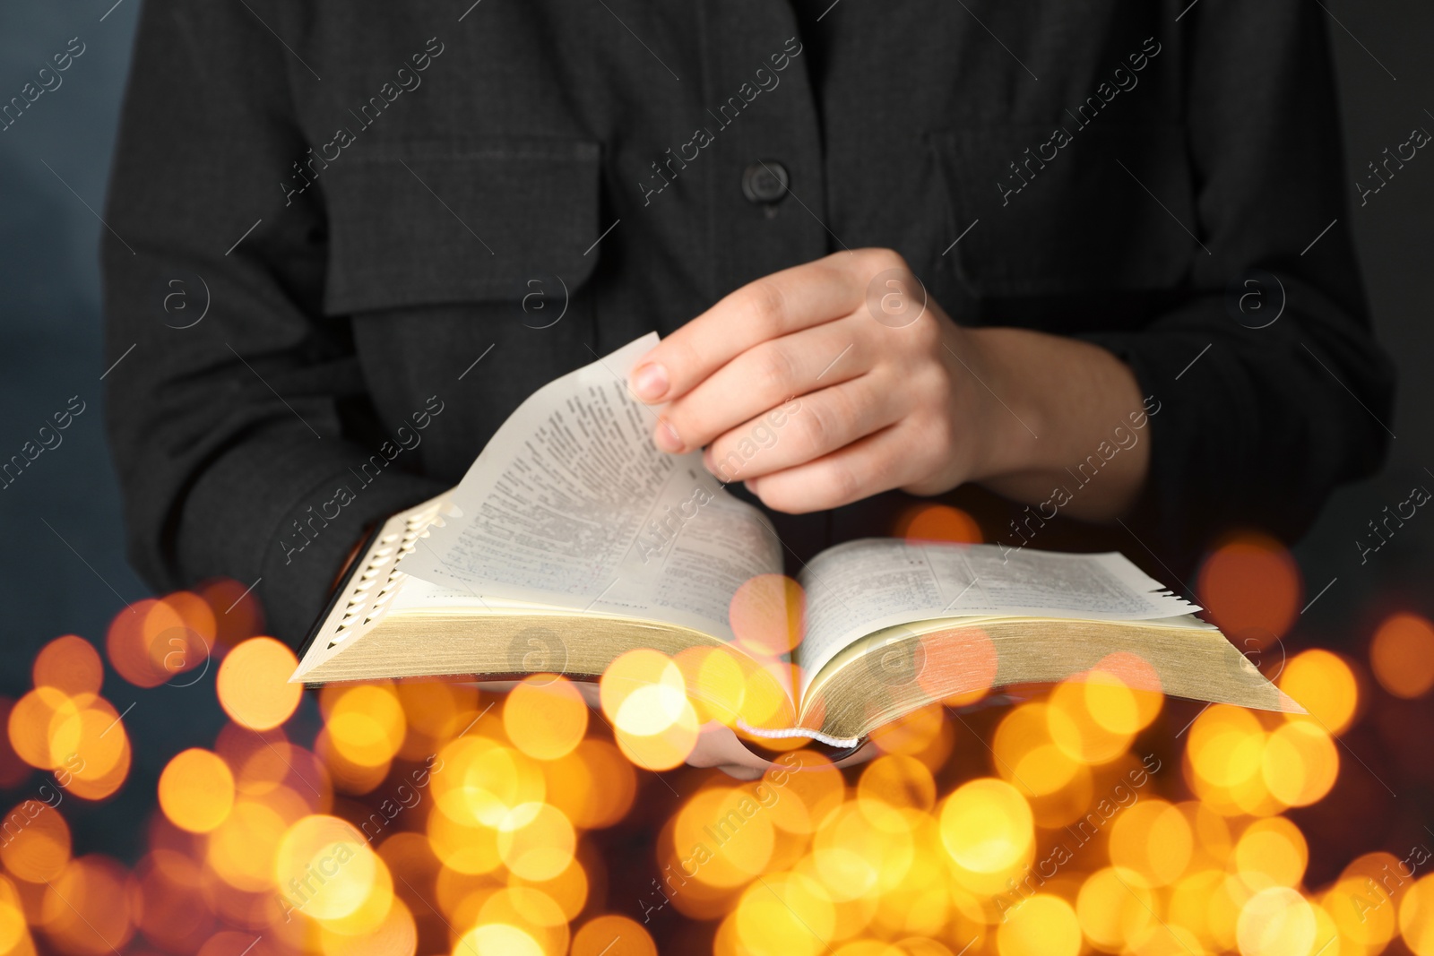
{"type": "Polygon", "coordinates": [[[1296,539],[1392,439],[1394,370],[1351,242],[1324,16],[1301,0],[1189,10],[1192,294],[1140,331],[1083,335],[1160,403],[1126,520],[1169,560],[1232,527],[1296,539]]]}

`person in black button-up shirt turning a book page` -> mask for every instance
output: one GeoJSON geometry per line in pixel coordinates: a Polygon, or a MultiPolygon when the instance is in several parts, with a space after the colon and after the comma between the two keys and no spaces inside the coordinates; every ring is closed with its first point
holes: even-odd
{"type": "Polygon", "coordinates": [[[363,527],[654,328],[654,440],[796,559],[939,496],[1183,573],[1378,467],[1316,7],[891,6],[149,0],[103,248],[136,566],[297,642],[363,527]]]}

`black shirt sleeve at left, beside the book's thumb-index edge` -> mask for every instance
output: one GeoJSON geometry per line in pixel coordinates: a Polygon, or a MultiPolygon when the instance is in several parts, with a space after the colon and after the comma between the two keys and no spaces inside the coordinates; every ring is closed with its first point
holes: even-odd
{"type": "Polygon", "coordinates": [[[363,529],[442,487],[400,463],[360,482],[380,443],[348,322],[321,310],[320,189],[281,185],[307,150],[291,85],[318,82],[270,32],[288,13],[146,0],[102,262],[130,560],[159,589],[254,583],[297,644],[363,529]]]}

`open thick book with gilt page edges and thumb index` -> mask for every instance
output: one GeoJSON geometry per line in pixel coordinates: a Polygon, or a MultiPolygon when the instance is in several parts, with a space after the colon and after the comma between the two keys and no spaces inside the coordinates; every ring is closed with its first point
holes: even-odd
{"type": "MultiPolygon", "coordinates": [[[[740,730],[832,747],[936,699],[1088,671],[1302,709],[1197,606],[1117,553],[863,539],[786,568],[771,523],[700,453],[652,444],[657,411],[625,383],[655,344],[545,386],[456,489],[389,519],[291,679],[597,679],[627,651],[707,648],[761,701],[740,730]]],[[[714,691],[697,679],[688,692],[714,691]]]]}

